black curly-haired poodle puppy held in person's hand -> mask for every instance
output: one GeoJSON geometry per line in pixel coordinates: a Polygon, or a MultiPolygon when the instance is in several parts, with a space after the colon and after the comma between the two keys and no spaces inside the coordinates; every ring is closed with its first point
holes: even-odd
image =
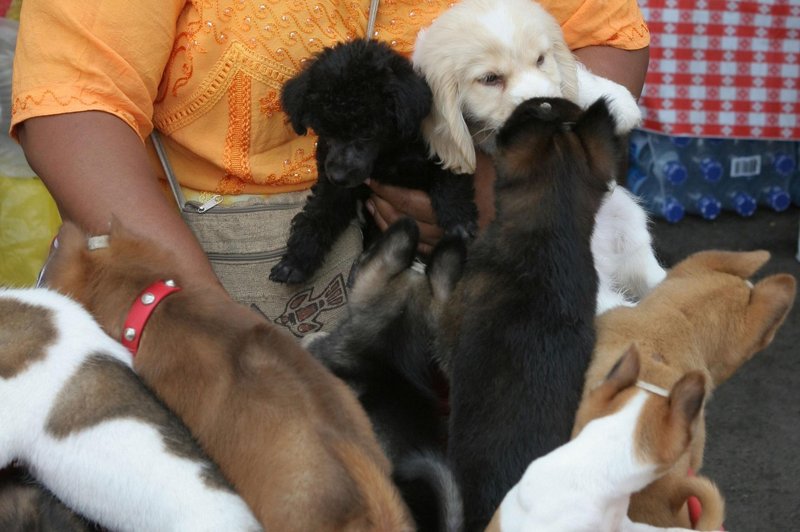
{"type": "Polygon", "coordinates": [[[286,82],[281,104],[292,127],[319,135],[319,179],[270,279],[301,283],[314,274],[369,195],[367,178],[427,191],[445,233],[475,235],[472,176],[429,159],[420,133],[432,100],[408,59],[364,39],[326,48],[286,82]]]}

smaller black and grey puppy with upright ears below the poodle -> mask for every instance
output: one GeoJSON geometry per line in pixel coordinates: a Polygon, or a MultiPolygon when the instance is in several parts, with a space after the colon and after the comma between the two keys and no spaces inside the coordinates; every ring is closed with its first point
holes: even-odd
{"type": "Polygon", "coordinates": [[[418,240],[410,218],[389,227],[354,270],[347,316],[308,349],[358,396],[417,529],[456,532],[463,510],[444,460],[434,338],[437,316],[461,276],[466,244],[455,236],[443,239],[423,273],[412,266],[418,240]]]}

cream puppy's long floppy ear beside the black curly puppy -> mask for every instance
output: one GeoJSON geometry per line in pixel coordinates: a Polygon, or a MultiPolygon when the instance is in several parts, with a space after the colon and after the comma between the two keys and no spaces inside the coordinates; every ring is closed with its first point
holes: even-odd
{"type": "Polygon", "coordinates": [[[435,43],[427,43],[426,31],[417,35],[412,61],[422,72],[433,92],[433,108],[422,123],[422,133],[428,143],[430,155],[438,158],[442,166],[456,173],[475,172],[475,146],[461,111],[461,91],[458,73],[443,65],[435,43]]]}

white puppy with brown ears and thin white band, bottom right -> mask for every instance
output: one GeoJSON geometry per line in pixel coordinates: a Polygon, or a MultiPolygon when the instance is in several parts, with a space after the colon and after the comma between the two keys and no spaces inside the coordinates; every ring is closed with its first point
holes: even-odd
{"type": "Polygon", "coordinates": [[[664,475],[686,452],[697,430],[706,377],[687,373],[659,395],[637,385],[639,370],[639,353],[631,348],[585,403],[604,415],[531,463],[488,532],[686,530],[634,523],[627,511],[631,494],[664,475]]]}

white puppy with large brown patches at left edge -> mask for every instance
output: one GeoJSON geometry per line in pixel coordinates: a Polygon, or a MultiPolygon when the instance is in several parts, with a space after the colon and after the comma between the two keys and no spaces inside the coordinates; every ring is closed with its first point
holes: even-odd
{"type": "Polygon", "coordinates": [[[79,304],[0,291],[0,467],[18,460],[114,530],[260,530],[186,427],[79,304]]]}

